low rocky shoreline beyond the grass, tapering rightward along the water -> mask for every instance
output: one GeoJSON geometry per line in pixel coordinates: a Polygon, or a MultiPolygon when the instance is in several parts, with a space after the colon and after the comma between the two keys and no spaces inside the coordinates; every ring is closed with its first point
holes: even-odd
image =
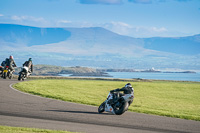
{"type": "MultiPolygon", "coordinates": [[[[17,75],[20,68],[17,68],[15,74],[17,75]]],[[[196,73],[194,71],[160,71],[154,68],[147,70],[135,70],[135,69],[95,69],[89,67],[61,67],[52,65],[35,65],[32,76],[68,76],[68,77],[102,77],[111,78],[113,75],[110,72],[128,72],[128,73],[196,73]]],[[[140,77],[135,77],[140,78],[140,77]]]]}

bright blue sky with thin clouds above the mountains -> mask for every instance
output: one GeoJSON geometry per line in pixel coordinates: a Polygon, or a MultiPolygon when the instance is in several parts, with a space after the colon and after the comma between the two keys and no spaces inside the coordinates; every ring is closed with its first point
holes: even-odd
{"type": "Polygon", "coordinates": [[[200,0],[0,0],[0,23],[103,27],[132,37],[200,34],[200,0]]]}

